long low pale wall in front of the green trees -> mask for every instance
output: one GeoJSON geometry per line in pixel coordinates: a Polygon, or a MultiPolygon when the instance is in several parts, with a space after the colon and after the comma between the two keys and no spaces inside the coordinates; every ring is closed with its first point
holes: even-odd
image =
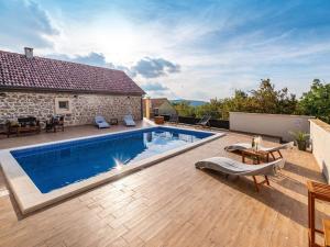
{"type": "Polygon", "coordinates": [[[312,116],[306,115],[284,115],[230,112],[230,131],[253,133],[282,137],[283,141],[293,141],[290,131],[302,131],[309,133],[309,120],[312,116]]]}

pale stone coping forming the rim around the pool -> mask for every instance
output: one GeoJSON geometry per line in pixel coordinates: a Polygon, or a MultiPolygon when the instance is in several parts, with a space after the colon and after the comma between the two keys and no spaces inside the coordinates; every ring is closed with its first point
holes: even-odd
{"type": "MultiPolygon", "coordinates": [[[[154,128],[154,127],[157,127],[157,125],[142,127],[142,128],[128,130],[128,131],[121,131],[121,132],[106,133],[106,134],[100,134],[100,135],[89,135],[89,136],[69,138],[69,139],[64,139],[64,141],[47,142],[47,143],[41,143],[41,144],[35,144],[35,145],[26,145],[26,146],[21,146],[21,147],[16,147],[16,148],[2,149],[2,150],[0,150],[0,166],[2,167],[6,180],[10,187],[11,192],[13,193],[13,195],[15,198],[15,201],[16,201],[22,214],[29,214],[33,211],[37,211],[40,209],[43,209],[45,206],[48,206],[51,204],[54,204],[62,200],[65,200],[69,197],[73,197],[75,194],[90,190],[91,188],[98,187],[102,183],[107,183],[107,182],[120,179],[124,176],[128,176],[128,175],[139,171],[141,169],[144,169],[146,167],[153,166],[155,164],[158,164],[167,158],[172,158],[174,156],[183,154],[187,150],[190,150],[195,147],[201,146],[206,143],[212,142],[212,141],[218,139],[226,135],[226,133],[217,133],[217,132],[202,131],[202,130],[190,130],[193,132],[195,131],[195,132],[212,133],[212,135],[208,136],[206,138],[202,138],[200,141],[197,141],[195,143],[184,145],[183,147],[177,147],[172,150],[165,151],[163,154],[155,155],[155,156],[142,159],[140,161],[132,162],[132,164],[130,164],[130,166],[122,167],[121,170],[112,169],[110,171],[102,172],[98,176],[90,177],[86,180],[75,182],[75,183],[68,184],[66,187],[53,190],[48,193],[42,193],[36,188],[36,186],[33,183],[31,178],[25,173],[23,168],[18,164],[15,158],[10,153],[11,150],[33,148],[33,147],[44,146],[44,145],[66,143],[66,142],[73,142],[73,141],[79,141],[79,139],[88,139],[91,137],[100,137],[100,136],[107,136],[107,135],[111,136],[111,135],[121,134],[121,133],[133,133],[133,132],[139,132],[141,130],[147,130],[147,128],[154,128]]],[[[174,126],[164,126],[164,127],[189,131],[189,128],[180,128],[180,127],[174,127],[174,126]]]]}

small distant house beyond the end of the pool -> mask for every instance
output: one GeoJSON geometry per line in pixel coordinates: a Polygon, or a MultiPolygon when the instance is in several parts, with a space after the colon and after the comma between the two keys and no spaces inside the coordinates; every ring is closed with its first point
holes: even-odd
{"type": "Polygon", "coordinates": [[[143,109],[144,115],[146,112],[146,108],[148,105],[148,112],[151,113],[151,117],[155,115],[175,115],[177,114],[175,108],[166,98],[160,99],[143,99],[143,109]]]}

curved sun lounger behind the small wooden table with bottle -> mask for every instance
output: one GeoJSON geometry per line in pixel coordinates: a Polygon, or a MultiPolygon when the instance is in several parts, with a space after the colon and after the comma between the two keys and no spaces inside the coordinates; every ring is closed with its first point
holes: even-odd
{"type": "MultiPolygon", "coordinates": [[[[262,150],[262,151],[268,153],[270,155],[272,155],[273,159],[275,159],[274,153],[277,153],[279,155],[279,157],[283,158],[283,155],[280,154],[280,150],[292,148],[293,146],[294,146],[294,142],[290,142],[290,143],[279,145],[277,147],[263,147],[263,146],[260,146],[258,149],[262,150]]],[[[227,151],[241,151],[241,150],[249,149],[249,148],[252,148],[252,144],[250,144],[250,143],[237,143],[237,144],[232,144],[232,145],[229,145],[229,146],[224,147],[224,150],[227,150],[227,151]]]]}

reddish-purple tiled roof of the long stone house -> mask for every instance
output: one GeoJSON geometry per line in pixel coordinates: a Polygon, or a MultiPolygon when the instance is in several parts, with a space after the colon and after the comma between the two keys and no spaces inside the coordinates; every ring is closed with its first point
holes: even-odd
{"type": "Polygon", "coordinates": [[[0,50],[0,88],[116,94],[145,92],[123,71],[0,50]]]}

